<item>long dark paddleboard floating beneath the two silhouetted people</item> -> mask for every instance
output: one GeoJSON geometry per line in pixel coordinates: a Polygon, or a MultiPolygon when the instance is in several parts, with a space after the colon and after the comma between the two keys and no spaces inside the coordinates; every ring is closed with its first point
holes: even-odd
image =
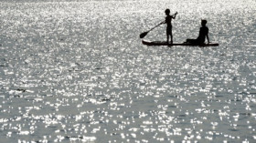
{"type": "Polygon", "coordinates": [[[146,46],[219,46],[218,43],[210,43],[210,44],[203,44],[203,45],[193,45],[189,43],[166,43],[166,41],[147,41],[142,40],[143,44],[146,46]]]}

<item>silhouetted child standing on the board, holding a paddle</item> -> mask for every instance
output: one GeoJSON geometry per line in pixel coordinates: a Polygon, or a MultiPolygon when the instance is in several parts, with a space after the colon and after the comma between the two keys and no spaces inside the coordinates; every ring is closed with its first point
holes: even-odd
{"type": "MultiPolygon", "coordinates": [[[[176,12],[177,14],[177,12],[176,12]]],[[[167,43],[169,43],[169,36],[171,36],[171,44],[173,44],[173,32],[172,32],[172,19],[176,18],[176,14],[175,15],[170,15],[170,9],[166,9],[165,10],[165,22],[163,22],[162,24],[166,24],[166,36],[167,36],[167,43]]]]}

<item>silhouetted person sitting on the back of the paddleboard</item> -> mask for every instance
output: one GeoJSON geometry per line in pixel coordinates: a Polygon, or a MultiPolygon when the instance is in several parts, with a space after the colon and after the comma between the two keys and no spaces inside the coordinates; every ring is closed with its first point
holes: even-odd
{"type": "MultiPolygon", "coordinates": [[[[205,44],[206,37],[208,39],[208,27],[206,26],[207,23],[208,23],[207,20],[202,20],[200,31],[199,31],[199,36],[197,37],[197,39],[187,39],[186,43],[187,44],[192,44],[192,45],[203,45],[203,44],[205,44]]],[[[209,39],[208,39],[208,44],[209,44],[209,39]]]]}

